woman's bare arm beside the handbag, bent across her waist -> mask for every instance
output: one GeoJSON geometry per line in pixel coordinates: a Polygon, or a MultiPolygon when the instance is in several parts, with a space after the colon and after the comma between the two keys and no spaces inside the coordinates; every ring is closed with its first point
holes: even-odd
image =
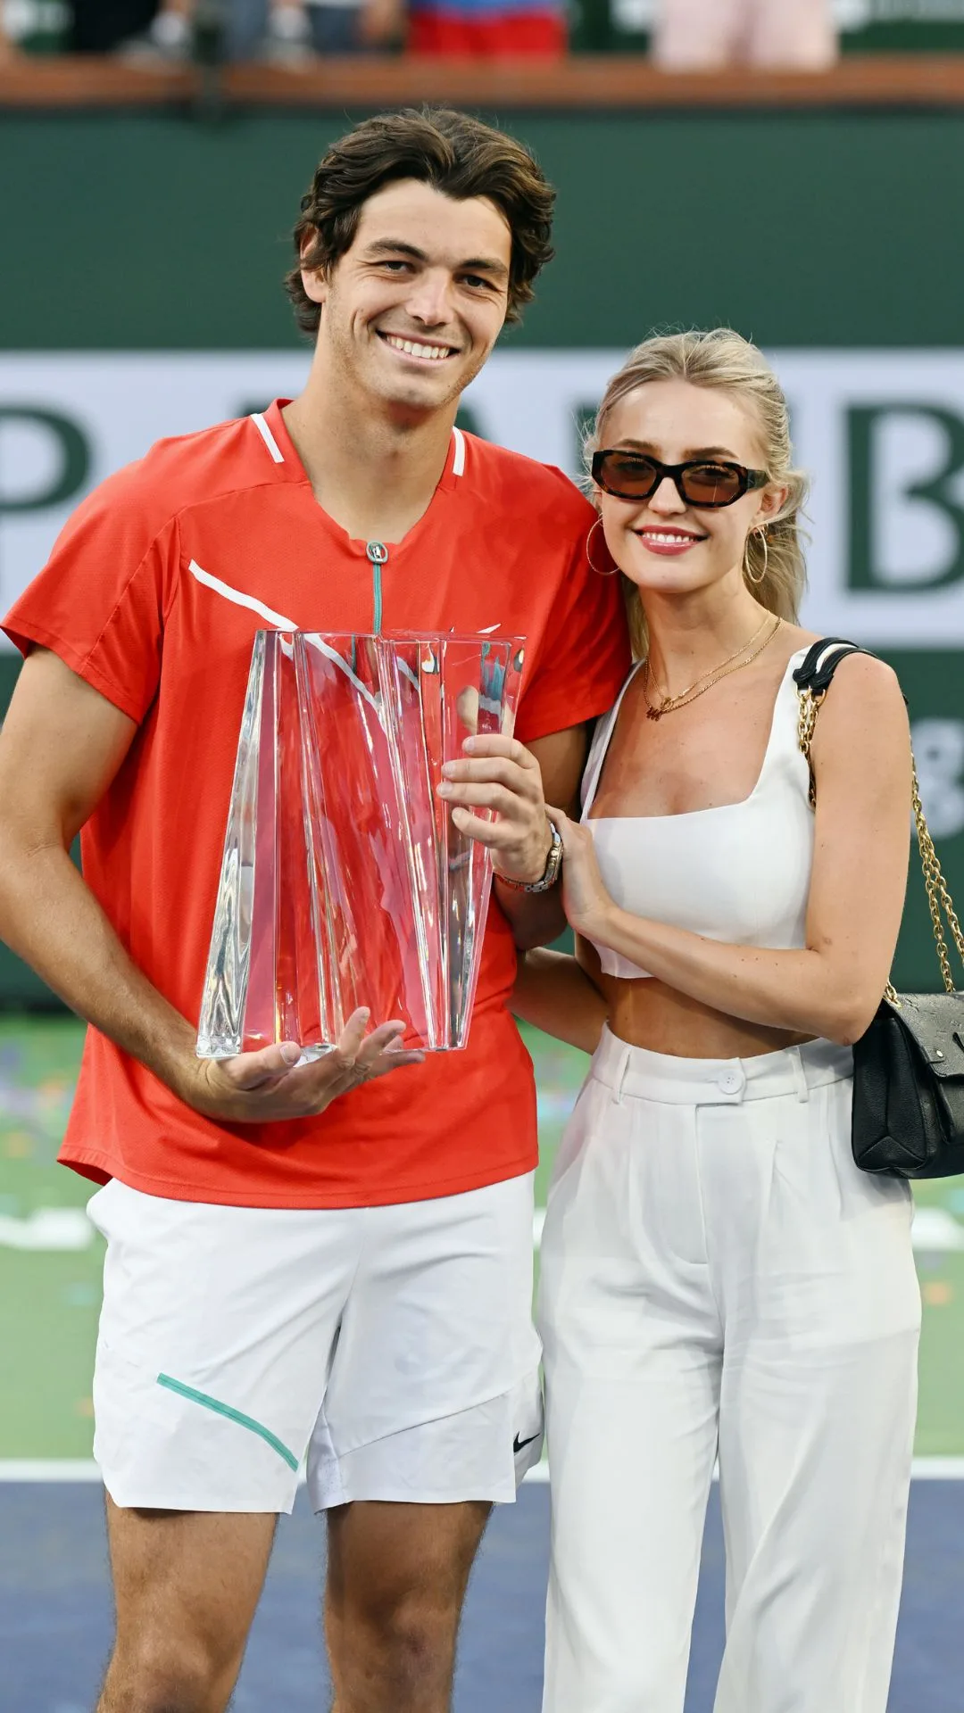
{"type": "MultiPolygon", "coordinates": [[[[853,654],[837,668],[813,740],[816,826],[806,947],[727,946],[619,910],[592,834],[557,819],[566,915],[667,987],[748,1023],[853,1043],[887,985],[907,882],[911,745],[897,678],[853,654]]],[[[758,853],[760,867],[767,851],[758,853]]]]}

